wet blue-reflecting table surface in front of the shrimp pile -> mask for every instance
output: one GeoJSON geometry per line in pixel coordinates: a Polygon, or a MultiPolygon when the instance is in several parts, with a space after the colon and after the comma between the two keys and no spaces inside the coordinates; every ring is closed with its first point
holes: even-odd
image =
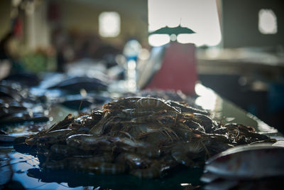
{"type": "Polygon", "coordinates": [[[178,171],[163,179],[137,179],[130,175],[84,174],[70,171],[41,171],[38,159],[0,147],[0,187],[19,181],[26,189],[183,189],[180,184],[199,184],[201,169],[178,171]]]}

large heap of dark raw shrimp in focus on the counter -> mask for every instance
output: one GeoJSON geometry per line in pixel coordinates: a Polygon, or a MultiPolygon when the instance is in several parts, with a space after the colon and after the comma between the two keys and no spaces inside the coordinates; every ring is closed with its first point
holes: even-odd
{"type": "Polygon", "coordinates": [[[102,110],[68,115],[26,144],[43,169],[152,179],[180,166],[202,167],[213,154],[239,144],[274,141],[253,127],[223,125],[184,102],[126,97],[102,110]]]}

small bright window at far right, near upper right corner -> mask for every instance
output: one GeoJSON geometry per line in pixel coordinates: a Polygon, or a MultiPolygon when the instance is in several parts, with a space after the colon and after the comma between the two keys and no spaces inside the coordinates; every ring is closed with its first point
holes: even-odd
{"type": "Polygon", "coordinates": [[[277,33],[277,17],[271,9],[261,9],[258,12],[258,31],[263,34],[277,33]]]}

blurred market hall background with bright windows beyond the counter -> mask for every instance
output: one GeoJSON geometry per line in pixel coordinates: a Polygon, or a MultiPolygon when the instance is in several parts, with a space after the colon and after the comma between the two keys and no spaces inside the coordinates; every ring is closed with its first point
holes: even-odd
{"type": "Polygon", "coordinates": [[[283,132],[283,8],[280,0],[1,0],[0,79],[14,73],[102,79],[104,70],[107,80],[128,78],[132,90],[142,89],[136,80],[150,80],[141,73],[155,50],[193,43],[188,75],[283,132]]]}

